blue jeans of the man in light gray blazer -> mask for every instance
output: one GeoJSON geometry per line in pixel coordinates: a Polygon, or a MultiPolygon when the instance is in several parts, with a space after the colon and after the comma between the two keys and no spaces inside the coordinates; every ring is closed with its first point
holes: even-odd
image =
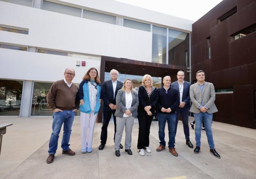
{"type": "Polygon", "coordinates": [[[205,131],[206,131],[206,136],[207,136],[207,140],[208,140],[208,144],[210,146],[210,149],[214,149],[214,142],[213,142],[213,135],[212,135],[212,131],[211,131],[211,124],[212,124],[212,115],[213,114],[209,114],[209,113],[194,113],[194,117],[195,117],[195,140],[197,142],[197,146],[200,147],[201,146],[201,127],[202,127],[202,120],[204,119],[204,127],[205,127],[205,131]]]}

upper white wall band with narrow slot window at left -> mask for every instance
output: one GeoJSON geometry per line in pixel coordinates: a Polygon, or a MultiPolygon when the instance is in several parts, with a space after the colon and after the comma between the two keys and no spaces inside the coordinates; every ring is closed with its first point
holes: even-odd
{"type": "Polygon", "coordinates": [[[151,62],[152,33],[0,1],[0,42],[151,62]]]}

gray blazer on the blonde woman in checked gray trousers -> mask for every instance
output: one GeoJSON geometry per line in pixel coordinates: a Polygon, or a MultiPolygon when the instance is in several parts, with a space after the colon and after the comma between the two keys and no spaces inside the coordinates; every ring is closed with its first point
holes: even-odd
{"type": "MultiPolygon", "coordinates": [[[[122,118],[124,115],[124,112],[127,110],[125,107],[125,91],[122,91],[121,89],[118,90],[117,96],[116,96],[116,104],[117,104],[117,110],[115,111],[115,116],[122,118]]],[[[132,107],[130,108],[130,111],[132,113],[133,117],[136,117],[138,115],[137,113],[137,107],[139,105],[139,98],[137,92],[132,92],[132,107]]]]}

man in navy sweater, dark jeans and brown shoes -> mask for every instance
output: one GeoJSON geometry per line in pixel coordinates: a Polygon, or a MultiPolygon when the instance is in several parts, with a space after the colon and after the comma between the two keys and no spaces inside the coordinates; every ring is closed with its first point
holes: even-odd
{"type": "Polygon", "coordinates": [[[176,108],[180,104],[180,98],[178,91],[171,87],[171,77],[165,76],[163,78],[163,86],[157,90],[158,92],[158,125],[159,125],[159,139],[160,145],[156,151],[162,151],[165,149],[165,124],[167,121],[169,130],[169,151],[174,156],[178,156],[175,151],[175,128],[176,128],[176,108]]]}

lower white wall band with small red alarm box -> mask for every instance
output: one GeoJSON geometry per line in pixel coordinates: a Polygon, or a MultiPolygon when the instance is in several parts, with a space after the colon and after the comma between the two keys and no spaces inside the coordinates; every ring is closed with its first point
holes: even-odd
{"type": "Polygon", "coordinates": [[[74,83],[80,83],[91,67],[100,70],[100,60],[41,54],[0,48],[0,78],[48,81],[64,79],[64,70],[73,68],[74,83]],[[76,61],[86,61],[86,66],[76,66],[76,61]]]}

